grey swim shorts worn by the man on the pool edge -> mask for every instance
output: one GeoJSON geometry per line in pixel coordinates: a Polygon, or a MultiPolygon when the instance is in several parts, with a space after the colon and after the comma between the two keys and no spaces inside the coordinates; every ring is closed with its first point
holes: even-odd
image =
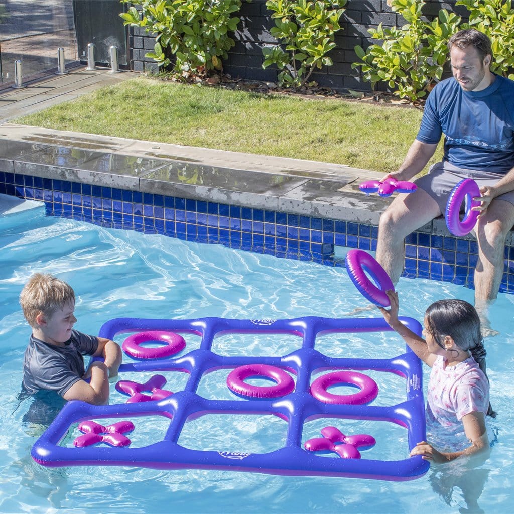
{"type": "MultiPolygon", "coordinates": [[[[446,204],[452,189],[464,178],[472,178],[479,186],[493,186],[504,175],[490,171],[474,171],[465,168],[458,168],[448,161],[441,161],[432,164],[429,172],[419,177],[414,182],[426,191],[439,206],[441,214],[446,211],[446,204]]],[[[500,200],[509,201],[514,204],[514,191],[497,196],[500,200]]]]}

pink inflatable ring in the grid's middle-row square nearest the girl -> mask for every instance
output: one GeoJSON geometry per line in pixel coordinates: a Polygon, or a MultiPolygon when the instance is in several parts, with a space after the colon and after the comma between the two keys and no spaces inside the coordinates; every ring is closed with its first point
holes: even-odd
{"type": "Polygon", "coordinates": [[[338,405],[362,405],[372,402],[378,395],[375,380],[368,375],[354,371],[335,371],[318,377],[310,386],[310,394],[324,403],[338,405]],[[327,391],[331,386],[354,386],[360,389],[355,394],[332,394],[327,391]]]}

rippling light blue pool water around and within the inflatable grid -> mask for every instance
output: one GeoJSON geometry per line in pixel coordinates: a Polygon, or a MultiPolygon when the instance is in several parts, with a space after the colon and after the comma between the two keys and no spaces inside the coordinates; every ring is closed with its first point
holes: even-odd
{"type": "MultiPolygon", "coordinates": [[[[321,511],[355,514],[417,512],[427,506],[438,512],[506,512],[514,506],[511,492],[514,470],[512,295],[500,295],[490,316],[492,326],[501,332],[500,336],[486,339],[491,402],[499,415],[489,423],[497,438],[491,457],[478,468],[469,469],[466,463],[456,461],[433,468],[411,482],[216,470],[44,468],[30,457],[30,449],[44,429],[41,424],[44,416],[34,421],[32,399],[17,397],[23,352],[30,334],[17,298],[34,271],[56,274],[74,286],[76,328],[91,334],[98,333],[105,321],[116,317],[336,318],[366,302],[343,268],[49,218],[44,216],[43,209],[32,215],[29,223],[25,214],[0,218],[0,262],[0,369],[4,383],[4,401],[0,403],[3,419],[0,425],[0,512],[321,511]]],[[[418,320],[423,319],[425,308],[436,299],[473,301],[472,290],[450,283],[401,279],[397,289],[400,314],[418,320]]],[[[364,317],[376,315],[376,311],[361,314],[364,317]]],[[[121,342],[123,337],[117,341],[121,342]]],[[[197,339],[194,335],[186,336],[188,349],[199,344],[197,339]]],[[[246,334],[237,340],[219,338],[213,350],[221,355],[284,355],[295,344],[296,338],[290,335],[246,334]]],[[[317,346],[331,357],[355,358],[391,357],[402,353],[404,348],[399,338],[381,333],[347,338],[329,334],[317,346]]],[[[425,367],[424,372],[426,388],[428,368],[425,367]]],[[[163,374],[169,380],[170,390],[183,387],[185,377],[180,376],[182,374],[163,374]]],[[[377,382],[383,381],[379,387],[386,391],[387,401],[397,402],[404,397],[401,378],[384,379],[379,378],[378,373],[369,374],[377,382]]],[[[135,380],[136,375],[142,375],[137,376],[140,383],[151,376],[127,373],[123,378],[135,380]]],[[[231,393],[220,386],[224,386],[225,378],[224,370],[206,375],[198,394],[228,398],[231,393]]],[[[125,400],[114,387],[112,389],[112,402],[125,400]]],[[[188,448],[219,448],[219,440],[210,428],[223,427],[225,444],[242,440],[249,445],[248,451],[272,451],[283,444],[285,423],[276,416],[211,414],[208,417],[188,423],[180,443],[188,448]]],[[[308,423],[309,437],[318,436],[322,421],[308,423]]],[[[373,425],[378,422],[353,423],[355,433],[366,433],[366,428],[375,430],[373,425]]],[[[166,424],[166,418],[154,416],[148,425],[141,427],[139,439],[134,443],[143,446],[152,438],[160,438],[166,424]]],[[[70,444],[75,436],[68,435],[61,444],[70,444]]],[[[402,437],[405,432],[398,427],[390,432],[383,431],[375,450],[380,455],[378,458],[406,458],[391,453],[402,437]]],[[[362,453],[365,458],[365,452],[362,453]]]]}

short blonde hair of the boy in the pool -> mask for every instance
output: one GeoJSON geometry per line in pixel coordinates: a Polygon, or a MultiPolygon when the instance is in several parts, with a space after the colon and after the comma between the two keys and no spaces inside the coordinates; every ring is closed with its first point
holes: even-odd
{"type": "Polygon", "coordinates": [[[75,291],[66,282],[50,274],[34,273],[20,293],[23,315],[31,327],[37,327],[36,317],[43,313],[47,317],[75,302],[75,291]]]}

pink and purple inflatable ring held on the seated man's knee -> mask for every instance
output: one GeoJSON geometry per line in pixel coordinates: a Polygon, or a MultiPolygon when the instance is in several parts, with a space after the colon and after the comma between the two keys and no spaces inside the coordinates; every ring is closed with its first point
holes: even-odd
{"type": "Polygon", "coordinates": [[[457,237],[469,234],[476,225],[476,218],[480,212],[472,211],[472,207],[480,207],[481,202],[473,200],[480,197],[480,188],[472,178],[461,180],[450,193],[448,203],[446,204],[446,226],[448,230],[457,237]],[[465,204],[464,219],[461,221],[461,207],[465,204]]]}

